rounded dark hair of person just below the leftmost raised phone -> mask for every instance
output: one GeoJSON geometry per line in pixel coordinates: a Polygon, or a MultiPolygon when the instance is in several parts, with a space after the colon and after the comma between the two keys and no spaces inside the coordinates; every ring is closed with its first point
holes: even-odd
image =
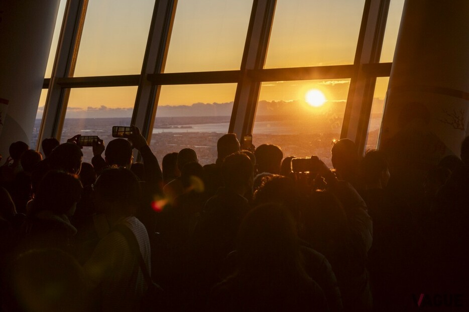
{"type": "Polygon", "coordinates": [[[50,165],[52,169],[77,174],[80,172],[82,157],[83,153],[78,145],[63,143],[52,151],[50,165]]]}

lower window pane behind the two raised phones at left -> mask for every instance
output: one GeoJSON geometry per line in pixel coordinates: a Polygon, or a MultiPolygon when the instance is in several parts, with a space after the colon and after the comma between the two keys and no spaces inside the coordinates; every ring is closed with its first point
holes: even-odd
{"type": "MultiPolygon", "coordinates": [[[[112,126],[130,126],[137,87],[79,88],[70,91],[61,143],[77,135],[97,135],[106,145],[112,126]]],[[[83,147],[83,161],[91,162],[91,147],[83,147]]]]}

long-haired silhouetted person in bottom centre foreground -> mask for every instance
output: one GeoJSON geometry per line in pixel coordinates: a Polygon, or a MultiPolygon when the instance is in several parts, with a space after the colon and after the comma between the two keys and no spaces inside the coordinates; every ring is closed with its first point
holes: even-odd
{"type": "Polygon", "coordinates": [[[274,204],[251,211],[241,224],[236,273],[215,286],[213,311],[327,311],[321,288],[306,273],[289,212],[274,204]]]}

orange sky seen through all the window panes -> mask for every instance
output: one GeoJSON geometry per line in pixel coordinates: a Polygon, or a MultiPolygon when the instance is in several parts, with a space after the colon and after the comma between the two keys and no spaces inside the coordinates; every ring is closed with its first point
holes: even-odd
{"type": "MultiPolygon", "coordinates": [[[[61,1],[46,78],[52,72],[61,1]]],[[[391,2],[382,62],[391,62],[404,0],[391,2]]],[[[278,0],[266,68],[351,64],[365,0],[278,0]]],[[[140,74],[154,0],[94,0],[88,5],[75,76],[140,74]]],[[[165,72],[236,70],[252,0],[179,0],[165,72]]],[[[384,99],[387,78],[375,97],[384,99]]],[[[263,83],[259,100],[303,99],[311,88],[346,100],[348,80],[263,83]]],[[[163,86],[160,105],[233,101],[236,84],[163,86]]],[[[72,90],[69,107],[131,108],[136,87],[72,90]]],[[[45,102],[43,91],[39,106],[45,102]]]]}

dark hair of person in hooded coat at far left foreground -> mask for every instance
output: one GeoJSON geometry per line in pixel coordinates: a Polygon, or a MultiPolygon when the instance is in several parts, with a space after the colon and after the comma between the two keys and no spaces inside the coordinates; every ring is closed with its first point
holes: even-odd
{"type": "Polygon", "coordinates": [[[49,210],[54,214],[63,214],[80,200],[82,186],[80,180],[73,175],[51,170],[39,183],[34,197],[33,214],[49,210]]]}

